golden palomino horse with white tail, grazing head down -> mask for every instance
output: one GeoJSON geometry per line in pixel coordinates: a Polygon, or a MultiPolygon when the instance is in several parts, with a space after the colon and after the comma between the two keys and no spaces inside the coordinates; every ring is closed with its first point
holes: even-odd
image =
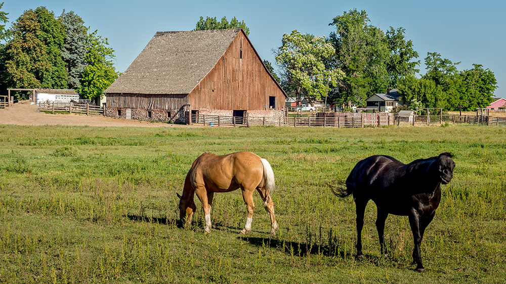
{"type": "Polygon", "coordinates": [[[274,190],[274,172],[266,159],[251,152],[237,152],[218,156],[205,152],[192,164],[185,179],[183,196],[179,197],[181,222],[190,224],[195,212],[194,193],[202,203],[205,217],[204,232],[211,229],[211,204],[214,193],[226,193],[241,188],[246,203],[247,218],[241,234],[251,230],[251,218],[255,204],[253,192],[257,190],[264,201],[264,207],[271,217],[271,234],[276,233],[278,224],[274,218],[274,203],[269,192],[274,190]]]}

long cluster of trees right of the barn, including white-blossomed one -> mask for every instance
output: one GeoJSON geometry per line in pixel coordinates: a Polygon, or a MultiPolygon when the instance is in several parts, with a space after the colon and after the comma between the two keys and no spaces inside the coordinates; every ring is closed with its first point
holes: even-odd
{"type": "Polygon", "coordinates": [[[426,73],[418,78],[418,53],[402,27],[383,31],[370,24],[365,11],[356,9],[336,16],[329,25],[335,31],[327,37],[294,30],[273,50],[280,83],[290,97],[328,96],[330,102],[364,107],[372,94],[397,88],[406,109],[470,111],[493,100],[494,73],[480,64],[459,71],[460,62],[428,53],[426,73]]]}

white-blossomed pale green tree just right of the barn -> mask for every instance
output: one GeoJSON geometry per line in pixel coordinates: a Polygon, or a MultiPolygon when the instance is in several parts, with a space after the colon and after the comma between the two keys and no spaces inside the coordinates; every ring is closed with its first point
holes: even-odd
{"type": "MultiPolygon", "coordinates": [[[[323,37],[293,30],[283,35],[282,45],[275,54],[276,62],[285,67],[290,83],[310,98],[325,97],[328,85],[337,85],[344,75],[339,68],[327,68],[325,62],[335,54],[335,50],[323,37]]],[[[296,99],[299,100],[298,97],[296,99]]]]}

